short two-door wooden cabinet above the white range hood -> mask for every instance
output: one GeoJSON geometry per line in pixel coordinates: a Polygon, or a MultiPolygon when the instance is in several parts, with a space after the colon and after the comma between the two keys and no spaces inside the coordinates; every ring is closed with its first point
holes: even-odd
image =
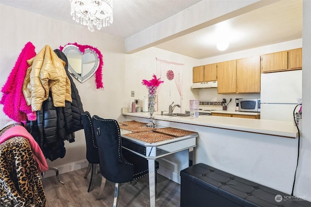
{"type": "Polygon", "coordinates": [[[193,82],[217,80],[217,64],[207,64],[193,67],[193,82]]]}

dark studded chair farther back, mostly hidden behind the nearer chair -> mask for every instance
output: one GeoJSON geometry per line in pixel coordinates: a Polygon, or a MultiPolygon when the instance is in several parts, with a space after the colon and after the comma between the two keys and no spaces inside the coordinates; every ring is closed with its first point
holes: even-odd
{"type": "Polygon", "coordinates": [[[86,136],[86,159],[89,162],[88,168],[86,170],[86,175],[84,175],[84,178],[87,177],[90,170],[92,169],[91,179],[89,181],[89,186],[87,189],[87,192],[89,192],[93,176],[95,175],[97,169],[97,164],[99,164],[99,155],[91,115],[89,114],[88,111],[85,111],[81,114],[81,119],[84,128],[84,133],[86,136]]]}

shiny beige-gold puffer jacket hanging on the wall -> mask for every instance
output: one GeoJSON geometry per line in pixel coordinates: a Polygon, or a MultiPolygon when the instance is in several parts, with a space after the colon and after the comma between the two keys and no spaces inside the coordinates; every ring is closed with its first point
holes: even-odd
{"type": "Polygon", "coordinates": [[[71,100],[70,80],[65,71],[65,62],[60,59],[52,48],[46,45],[27,63],[27,69],[23,84],[23,94],[32,111],[39,111],[43,101],[52,92],[53,105],[65,107],[65,100],[71,100]]]}

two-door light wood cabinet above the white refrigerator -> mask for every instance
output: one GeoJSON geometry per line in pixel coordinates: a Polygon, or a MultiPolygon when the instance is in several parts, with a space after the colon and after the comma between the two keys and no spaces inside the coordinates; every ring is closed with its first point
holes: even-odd
{"type": "Polygon", "coordinates": [[[302,48],[261,55],[261,73],[302,69],[302,48]]]}

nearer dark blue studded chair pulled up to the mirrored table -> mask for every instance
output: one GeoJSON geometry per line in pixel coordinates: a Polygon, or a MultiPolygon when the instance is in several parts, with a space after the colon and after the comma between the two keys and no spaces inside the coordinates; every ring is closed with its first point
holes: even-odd
{"type": "MultiPolygon", "coordinates": [[[[105,179],[107,179],[116,183],[113,203],[116,207],[119,183],[134,181],[148,175],[148,160],[122,148],[120,127],[116,120],[103,119],[94,115],[92,122],[96,131],[101,173],[104,176],[97,200],[104,190],[105,179]]],[[[159,163],[155,162],[155,175],[158,169],[159,163]]]]}

